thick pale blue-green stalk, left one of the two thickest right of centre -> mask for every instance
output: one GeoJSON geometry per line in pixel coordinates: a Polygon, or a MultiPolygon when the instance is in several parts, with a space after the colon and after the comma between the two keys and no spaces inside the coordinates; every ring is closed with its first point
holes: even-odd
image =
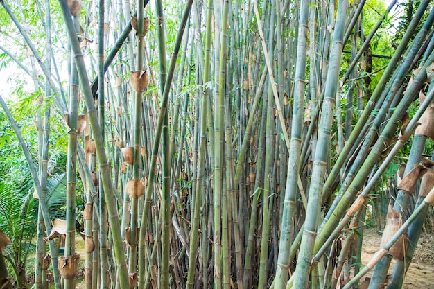
{"type": "MultiPolygon", "coordinates": [[[[311,9],[315,11],[315,6],[311,9]]],[[[303,103],[306,74],[306,49],[308,34],[309,1],[300,3],[299,32],[297,40],[297,63],[295,64],[295,88],[294,109],[291,123],[291,140],[288,164],[293,167],[288,169],[286,175],[286,190],[284,207],[281,217],[281,232],[279,241],[279,256],[277,260],[275,288],[285,288],[288,281],[290,244],[294,233],[294,209],[297,195],[297,181],[299,179],[300,152],[302,146],[303,103]]],[[[311,36],[313,37],[313,36],[311,36]]]]}

